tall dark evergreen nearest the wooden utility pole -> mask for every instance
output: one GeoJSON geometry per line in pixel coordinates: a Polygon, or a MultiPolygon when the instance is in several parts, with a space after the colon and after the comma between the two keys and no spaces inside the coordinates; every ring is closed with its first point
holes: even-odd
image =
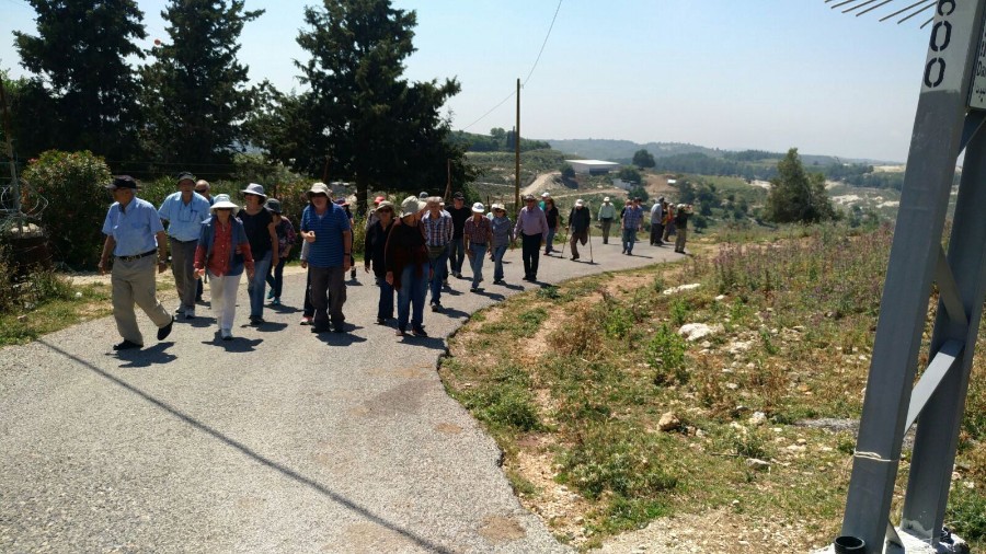
{"type": "Polygon", "coordinates": [[[415,12],[389,0],[324,0],[305,9],[305,22],[298,44],[310,59],[298,67],[310,91],[298,109],[306,132],[289,163],[355,181],[360,212],[370,187],[443,191],[447,171],[455,188],[474,177],[440,115],[458,81],[403,77],[415,12]]]}

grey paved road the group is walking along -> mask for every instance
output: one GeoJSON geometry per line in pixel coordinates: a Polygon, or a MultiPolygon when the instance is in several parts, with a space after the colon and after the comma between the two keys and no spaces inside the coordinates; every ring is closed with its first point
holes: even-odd
{"type": "MultiPolygon", "coordinates": [[[[595,264],[542,256],[540,277],[677,257],[594,243],[595,264]]],[[[524,282],[519,249],[507,258],[524,282]]],[[[445,337],[521,287],[452,279],[447,313],[425,315],[433,336],[400,339],[372,324],[377,289],[358,278],[343,335],[282,307],[223,343],[202,308],[163,343],[141,314],[137,353],[112,351],[112,318],[0,350],[0,552],[566,551],[435,371],[445,337]]],[[[302,286],[288,278],[287,303],[302,286]]]]}

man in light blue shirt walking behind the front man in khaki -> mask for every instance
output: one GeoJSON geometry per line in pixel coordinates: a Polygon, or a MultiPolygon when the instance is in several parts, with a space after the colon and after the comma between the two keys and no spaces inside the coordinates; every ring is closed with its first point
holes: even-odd
{"type": "Polygon", "coordinates": [[[174,288],[179,291],[177,313],[186,320],[195,318],[195,297],[198,279],[195,278],[195,247],[202,222],[211,217],[209,200],[194,191],[195,176],[188,172],[179,174],[179,192],[169,195],[161,203],[158,215],[168,223],[168,242],[171,245],[171,273],[174,288]]]}

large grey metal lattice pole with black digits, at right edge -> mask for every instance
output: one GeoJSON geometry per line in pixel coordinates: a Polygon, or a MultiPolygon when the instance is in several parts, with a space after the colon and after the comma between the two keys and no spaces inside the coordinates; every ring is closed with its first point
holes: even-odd
{"type": "Polygon", "coordinates": [[[986,0],[937,0],[925,5],[933,7],[933,25],[837,552],[904,552],[904,544],[914,541],[932,549],[928,552],[960,552],[942,524],[986,298],[986,135],[981,130],[986,77],[977,77],[986,76],[984,4],[986,0]],[[963,149],[965,165],[945,253],[942,232],[963,149]],[[932,282],[939,303],[931,361],[912,390],[932,282]],[[891,500],[904,435],[915,422],[902,541],[890,523],[891,500]]]}

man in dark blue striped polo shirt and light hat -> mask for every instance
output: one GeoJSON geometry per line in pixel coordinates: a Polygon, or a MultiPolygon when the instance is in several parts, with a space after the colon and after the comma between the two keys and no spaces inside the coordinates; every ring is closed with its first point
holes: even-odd
{"type": "Polygon", "coordinates": [[[308,243],[308,276],[314,307],[312,333],[342,333],[346,302],[345,275],[353,259],[353,232],[346,210],[329,201],[329,186],[316,183],[308,191],[311,204],[301,212],[301,238],[308,243]]]}

